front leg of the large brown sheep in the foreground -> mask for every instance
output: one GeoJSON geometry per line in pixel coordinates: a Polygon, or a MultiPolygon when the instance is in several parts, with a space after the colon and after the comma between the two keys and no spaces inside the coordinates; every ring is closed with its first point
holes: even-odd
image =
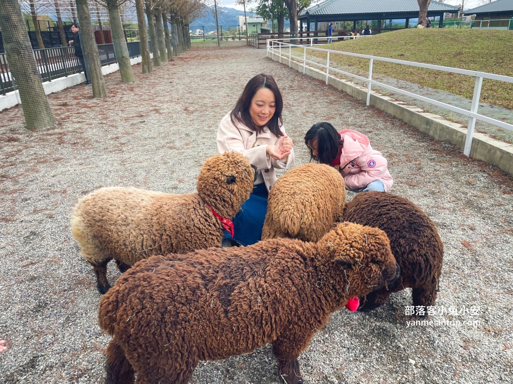
{"type": "Polygon", "coordinates": [[[298,356],[307,346],[307,340],[294,339],[293,337],[278,338],[272,344],[274,355],[278,358],[280,376],[287,384],[301,384],[303,378],[299,369],[298,356]]]}

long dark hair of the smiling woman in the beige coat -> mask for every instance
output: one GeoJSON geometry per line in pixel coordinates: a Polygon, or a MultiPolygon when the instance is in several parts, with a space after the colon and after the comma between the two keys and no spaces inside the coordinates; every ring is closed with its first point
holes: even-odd
{"type": "Polygon", "coordinates": [[[249,108],[251,106],[251,99],[255,93],[263,88],[270,90],[274,94],[276,106],[274,109],[274,115],[272,115],[266,126],[274,136],[282,137],[283,133],[280,130],[280,127],[282,126],[283,98],[280,90],[278,89],[278,85],[272,76],[261,73],[248,81],[244,91],[242,91],[241,97],[239,97],[239,100],[235,104],[235,108],[231,111],[230,119],[233,124],[236,124],[236,121],[239,121],[252,131],[262,133],[264,127],[258,126],[253,122],[253,119],[251,119],[249,114],[249,108]]]}

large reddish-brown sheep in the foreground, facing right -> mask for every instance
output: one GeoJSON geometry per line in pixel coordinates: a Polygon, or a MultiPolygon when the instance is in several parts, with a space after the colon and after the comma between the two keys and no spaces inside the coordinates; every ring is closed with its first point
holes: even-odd
{"type": "Polygon", "coordinates": [[[287,383],[302,382],[298,356],[352,296],[396,277],[380,229],[334,227],[318,243],[293,239],[151,257],[100,301],[106,383],[186,383],[200,360],[272,343],[287,383]]]}

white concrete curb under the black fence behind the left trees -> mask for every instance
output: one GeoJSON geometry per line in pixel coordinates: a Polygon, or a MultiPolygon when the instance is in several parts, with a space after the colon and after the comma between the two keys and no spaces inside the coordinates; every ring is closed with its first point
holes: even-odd
{"type": "MultiPolygon", "coordinates": [[[[150,54],[150,56],[152,56],[150,54]]],[[[140,63],[143,59],[141,57],[135,57],[130,59],[130,64],[133,66],[137,63],[140,63]]],[[[116,63],[102,67],[103,75],[108,75],[109,73],[116,72],[120,70],[120,66],[116,63]]],[[[43,89],[45,90],[45,94],[49,95],[50,93],[59,92],[63,89],[70,88],[76,86],[77,84],[81,84],[86,81],[86,76],[83,72],[75,73],[73,75],[69,75],[67,77],[59,77],[53,81],[45,81],[43,83],[43,89]]],[[[0,96],[0,111],[11,108],[15,105],[18,105],[18,91],[8,92],[7,94],[0,96]]]]}

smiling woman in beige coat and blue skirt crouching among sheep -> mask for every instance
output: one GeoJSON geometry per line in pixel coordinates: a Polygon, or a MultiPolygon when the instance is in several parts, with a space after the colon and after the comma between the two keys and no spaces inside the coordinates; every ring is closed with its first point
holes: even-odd
{"type": "Polygon", "coordinates": [[[225,237],[242,245],[261,239],[267,196],[276,181],[274,169],[289,167],[294,161],[282,109],[282,95],[274,78],[260,74],[249,80],[233,111],[219,124],[219,152],[240,152],[257,168],[253,193],[233,219],[234,236],[225,237]]]}

